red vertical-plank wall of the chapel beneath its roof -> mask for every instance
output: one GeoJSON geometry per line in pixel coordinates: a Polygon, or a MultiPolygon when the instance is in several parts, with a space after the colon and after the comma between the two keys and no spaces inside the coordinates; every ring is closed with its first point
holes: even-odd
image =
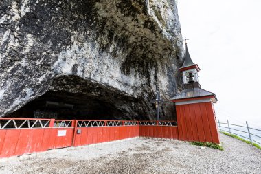
{"type": "Polygon", "coordinates": [[[177,105],[179,140],[214,142],[220,138],[212,102],[177,105]]]}

